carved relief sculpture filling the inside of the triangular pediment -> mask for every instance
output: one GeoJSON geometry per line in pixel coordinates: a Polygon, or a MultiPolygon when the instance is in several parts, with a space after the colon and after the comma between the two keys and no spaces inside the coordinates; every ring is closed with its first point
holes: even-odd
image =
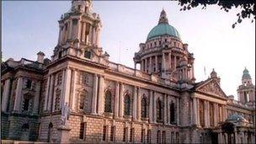
{"type": "Polygon", "coordinates": [[[198,91],[203,92],[203,93],[215,94],[220,97],[225,97],[225,93],[222,92],[219,84],[215,83],[215,82],[207,83],[202,88],[199,88],[198,91]]]}

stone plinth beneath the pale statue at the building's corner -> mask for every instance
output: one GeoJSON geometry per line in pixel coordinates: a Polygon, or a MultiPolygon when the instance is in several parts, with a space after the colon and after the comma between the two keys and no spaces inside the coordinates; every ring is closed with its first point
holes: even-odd
{"type": "Polygon", "coordinates": [[[61,125],[60,127],[57,128],[58,131],[58,142],[69,142],[69,131],[71,129],[68,126],[61,125]]]}

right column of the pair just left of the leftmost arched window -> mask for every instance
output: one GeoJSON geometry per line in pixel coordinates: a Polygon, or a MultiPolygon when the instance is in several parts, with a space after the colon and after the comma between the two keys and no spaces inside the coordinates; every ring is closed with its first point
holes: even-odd
{"type": "Polygon", "coordinates": [[[98,99],[98,114],[104,113],[104,77],[99,76],[99,99],[98,99]]]}

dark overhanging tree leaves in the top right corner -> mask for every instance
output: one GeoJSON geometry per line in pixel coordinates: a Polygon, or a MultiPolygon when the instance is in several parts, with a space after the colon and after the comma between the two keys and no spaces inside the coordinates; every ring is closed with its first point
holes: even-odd
{"type": "Polygon", "coordinates": [[[179,0],[179,5],[183,7],[180,9],[181,11],[189,10],[199,5],[202,5],[202,9],[205,9],[207,5],[212,4],[217,4],[226,12],[229,12],[232,8],[241,8],[241,11],[237,13],[237,22],[232,24],[232,28],[235,28],[236,24],[240,24],[242,19],[252,19],[252,23],[255,19],[254,0],[179,0]]]}

